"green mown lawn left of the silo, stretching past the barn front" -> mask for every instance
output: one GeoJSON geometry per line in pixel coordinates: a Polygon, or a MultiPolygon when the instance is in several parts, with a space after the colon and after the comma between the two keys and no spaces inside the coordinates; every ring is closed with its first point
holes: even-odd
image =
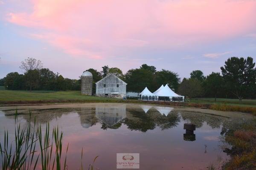
{"type": "Polygon", "coordinates": [[[81,95],[80,91],[0,91],[0,101],[37,100],[118,100],[105,97],[81,95]]]}

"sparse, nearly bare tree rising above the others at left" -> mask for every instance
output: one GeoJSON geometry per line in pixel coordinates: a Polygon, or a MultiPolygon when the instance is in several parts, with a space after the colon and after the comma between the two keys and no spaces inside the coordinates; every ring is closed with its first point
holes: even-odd
{"type": "Polygon", "coordinates": [[[27,84],[29,84],[30,91],[32,91],[33,83],[35,83],[35,80],[33,80],[33,76],[35,75],[32,74],[35,74],[34,70],[39,70],[42,67],[43,64],[40,60],[30,57],[21,62],[20,69],[22,69],[26,73],[27,81],[29,81],[27,84]]]}

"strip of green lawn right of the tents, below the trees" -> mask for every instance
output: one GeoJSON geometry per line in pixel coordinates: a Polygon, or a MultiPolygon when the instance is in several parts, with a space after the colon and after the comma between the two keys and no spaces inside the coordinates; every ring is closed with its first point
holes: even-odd
{"type": "Polygon", "coordinates": [[[217,101],[214,101],[214,98],[198,98],[190,99],[192,103],[204,103],[204,104],[226,104],[226,105],[236,105],[236,106],[250,106],[256,107],[256,99],[243,99],[239,102],[239,99],[222,99],[217,98],[217,101]]]}

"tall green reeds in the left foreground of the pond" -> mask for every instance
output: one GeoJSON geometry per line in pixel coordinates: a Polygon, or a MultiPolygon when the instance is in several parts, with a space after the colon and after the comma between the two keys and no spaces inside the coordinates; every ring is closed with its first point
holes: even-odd
{"type": "MultiPolygon", "coordinates": [[[[29,118],[31,118],[31,114],[32,113],[29,111],[29,118]]],[[[31,127],[31,123],[29,122],[26,129],[21,129],[20,124],[17,124],[17,115],[16,109],[14,145],[10,142],[8,130],[5,130],[3,144],[0,143],[2,170],[35,170],[38,168],[42,170],[67,170],[67,152],[69,144],[66,148],[66,156],[62,167],[63,132],[59,131],[58,126],[53,127],[50,135],[48,122],[46,130],[43,133],[41,125],[39,125],[37,129],[35,128],[36,119],[34,119],[33,127],[31,127]],[[38,144],[40,150],[36,150],[38,144]],[[41,167],[38,164],[39,158],[41,158],[41,167]]],[[[98,156],[95,157],[93,164],[97,157],[98,156]]],[[[89,170],[93,170],[93,164],[89,165],[89,170]]],[[[81,170],[83,170],[82,166],[81,170]]]]}

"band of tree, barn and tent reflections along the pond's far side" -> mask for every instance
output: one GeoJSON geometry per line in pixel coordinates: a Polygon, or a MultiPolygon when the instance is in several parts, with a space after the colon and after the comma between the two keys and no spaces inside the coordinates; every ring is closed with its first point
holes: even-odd
{"type": "MultiPolygon", "coordinates": [[[[58,119],[63,114],[77,113],[81,126],[89,128],[97,123],[102,124],[102,129],[118,129],[122,124],[127,125],[130,130],[139,130],[146,132],[159,127],[166,130],[176,127],[183,119],[185,122],[193,123],[197,128],[202,127],[204,122],[212,128],[220,128],[227,117],[216,116],[204,113],[191,113],[185,111],[175,111],[171,107],[137,105],[135,108],[126,108],[126,104],[109,105],[96,104],[96,107],[84,108],[46,108],[33,109],[32,113],[40,123],[50,122],[52,119],[58,119]]],[[[23,111],[23,114],[25,111],[23,111]]],[[[8,111],[7,111],[8,113],[8,111]]],[[[23,116],[30,121],[29,116],[23,116]]],[[[228,122],[224,124],[222,133],[225,133],[229,127],[228,122]]]]}

